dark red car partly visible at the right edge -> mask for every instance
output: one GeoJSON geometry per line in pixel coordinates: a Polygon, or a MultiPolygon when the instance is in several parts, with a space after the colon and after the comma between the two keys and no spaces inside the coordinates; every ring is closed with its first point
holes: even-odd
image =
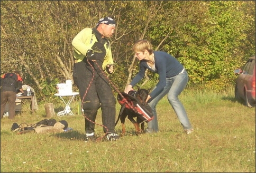
{"type": "Polygon", "coordinates": [[[234,73],[239,74],[235,80],[235,99],[255,107],[255,55],[245,63],[243,70],[236,69],[234,73]]]}

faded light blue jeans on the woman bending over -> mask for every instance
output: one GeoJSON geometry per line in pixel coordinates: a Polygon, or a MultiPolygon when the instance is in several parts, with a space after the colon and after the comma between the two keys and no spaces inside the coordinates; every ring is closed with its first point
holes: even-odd
{"type": "MultiPolygon", "coordinates": [[[[171,104],[173,110],[175,111],[181,125],[184,130],[192,129],[189,119],[187,117],[186,110],[183,104],[179,101],[178,96],[182,90],[186,87],[188,83],[188,73],[184,70],[183,73],[180,73],[174,77],[166,79],[166,86],[163,88],[163,91],[157,95],[157,97],[149,100],[149,105],[154,114],[154,119],[148,122],[147,132],[158,132],[158,120],[157,120],[157,103],[167,94],[167,99],[171,104]]],[[[156,87],[155,87],[156,88],[156,87]]],[[[154,89],[155,89],[154,88],[154,89]]]]}

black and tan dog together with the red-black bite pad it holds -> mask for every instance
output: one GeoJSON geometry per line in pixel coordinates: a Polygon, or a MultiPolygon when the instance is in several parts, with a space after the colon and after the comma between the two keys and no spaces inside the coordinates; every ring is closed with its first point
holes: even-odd
{"type": "Polygon", "coordinates": [[[134,124],[135,133],[137,135],[145,132],[144,122],[148,122],[153,119],[152,110],[149,107],[149,104],[145,102],[148,98],[149,91],[150,89],[146,90],[138,88],[138,91],[133,90],[128,94],[122,92],[121,94],[126,99],[126,101],[129,102],[130,105],[124,102],[124,99],[121,98],[120,94],[117,95],[117,100],[122,105],[122,107],[115,124],[117,124],[119,119],[121,120],[122,135],[125,134],[124,122],[127,116],[128,119],[134,124]],[[136,121],[134,118],[136,118],[136,121]]]}

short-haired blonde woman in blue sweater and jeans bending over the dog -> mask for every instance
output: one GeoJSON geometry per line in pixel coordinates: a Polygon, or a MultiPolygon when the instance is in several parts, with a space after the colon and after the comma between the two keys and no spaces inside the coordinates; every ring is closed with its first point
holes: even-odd
{"type": "Polygon", "coordinates": [[[153,51],[151,43],[147,40],[136,42],[133,45],[133,51],[140,61],[140,71],[132,82],[127,85],[124,90],[125,93],[133,90],[132,87],[144,77],[145,70],[149,69],[159,74],[159,82],[147,99],[154,114],[154,119],[148,122],[147,132],[159,131],[156,105],[164,95],[167,95],[169,103],[176,112],[184,131],[187,134],[193,132],[194,129],[189,122],[186,110],[178,99],[179,94],[188,83],[188,73],[184,66],[175,57],[166,52],[153,51]]]}

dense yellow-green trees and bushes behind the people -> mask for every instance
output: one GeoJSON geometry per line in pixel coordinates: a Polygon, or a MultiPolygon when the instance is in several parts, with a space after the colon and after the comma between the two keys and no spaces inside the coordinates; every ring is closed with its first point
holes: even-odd
{"type": "MultiPolygon", "coordinates": [[[[105,16],[116,20],[109,79],[121,91],[138,72],[140,39],[184,64],[190,87],[216,91],[255,54],[255,1],[1,1],[1,74],[19,69],[38,101],[55,99],[56,84],[72,79],[72,39],[105,16]]],[[[145,77],[145,88],[158,81],[145,77]]]]}

